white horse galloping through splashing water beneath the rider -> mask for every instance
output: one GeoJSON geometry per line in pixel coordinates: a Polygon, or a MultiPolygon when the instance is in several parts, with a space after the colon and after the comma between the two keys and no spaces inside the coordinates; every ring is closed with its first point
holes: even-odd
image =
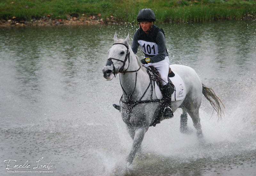
{"type": "MultiPolygon", "coordinates": [[[[141,64],[138,56],[133,54],[132,48],[128,44],[129,34],[125,40],[118,40],[115,33],[114,41],[112,48],[108,50],[108,61],[102,72],[106,80],[111,80],[120,73],[120,84],[123,89],[121,115],[133,139],[132,149],[126,158],[127,163],[131,164],[146,131],[150,124],[156,120],[163,100],[157,99],[146,68],[141,64]]],[[[198,138],[202,138],[203,133],[199,118],[202,93],[217,111],[219,118],[221,118],[222,108],[225,107],[212,89],[201,83],[195,70],[184,65],[170,65],[170,67],[180,75],[185,86],[185,98],[172,102],[173,112],[177,108],[182,109],[180,131],[182,133],[188,132],[188,113],[192,118],[198,138]]],[[[164,120],[163,117],[160,118],[160,121],[162,120],[164,120]]]]}

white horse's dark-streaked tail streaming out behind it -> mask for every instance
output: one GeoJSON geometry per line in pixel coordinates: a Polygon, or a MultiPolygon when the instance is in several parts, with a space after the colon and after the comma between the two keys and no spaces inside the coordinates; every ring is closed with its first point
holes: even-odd
{"type": "Polygon", "coordinates": [[[210,101],[213,109],[217,112],[218,121],[222,120],[222,114],[224,114],[223,110],[226,110],[225,106],[221,102],[220,98],[212,90],[212,88],[209,88],[209,87],[205,86],[204,84],[202,84],[202,86],[203,86],[202,93],[203,93],[204,97],[208,101],[210,101]]]}

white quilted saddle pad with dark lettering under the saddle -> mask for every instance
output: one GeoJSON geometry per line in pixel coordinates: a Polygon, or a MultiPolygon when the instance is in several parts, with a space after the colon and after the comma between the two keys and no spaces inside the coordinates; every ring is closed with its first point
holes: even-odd
{"type": "MultiPolygon", "coordinates": [[[[172,93],[172,101],[175,101],[175,97],[174,96],[176,96],[176,101],[184,99],[185,98],[185,86],[184,86],[184,83],[183,83],[180,75],[178,75],[178,73],[176,73],[174,71],[172,71],[172,72],[175,74],[175,76],[174,77],[170,77],[170,79],[172,81],[172,84],[174,84],[175,90],[176,90],[176,92],[174,91],[172,93]]],[[[162,99],[163,95],[161,93],[160,88],[156,84],[156,82],[155,82],[155,91],[156,91],[156,97],[158,99],[162,99]]]]}

